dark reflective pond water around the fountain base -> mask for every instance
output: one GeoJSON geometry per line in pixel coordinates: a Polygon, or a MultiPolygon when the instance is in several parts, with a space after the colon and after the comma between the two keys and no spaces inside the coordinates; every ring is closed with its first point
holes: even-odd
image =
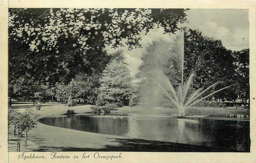
{"type": "Polygon", "coordinates": [[[250,151],[248,115],[227,114],[210,117],[241,120],[198,117],[177,119],[176,115],[147,116],[111,113],[107,115],[76,114],[72,117],[60,115],[39,119],[39,122],[50,126],[128,138],[218,147],[224,151],[250,151]]]}

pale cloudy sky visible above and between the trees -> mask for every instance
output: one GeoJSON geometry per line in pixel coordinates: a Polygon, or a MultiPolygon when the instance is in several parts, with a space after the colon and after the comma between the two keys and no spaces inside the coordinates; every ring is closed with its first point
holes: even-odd
{"type": "MultiPolygon", "coordinates": [[[[249,10],[247,9],[190,9],[187,11],[188,23],[184,23],[185,27],[190,29],[199,29],[204,36],[214,37],[221,40],[224,47],[230,50],[242,50],[249,48],[249,10]]],[[[141,56],[152,41],[157,39],[170,40],[172,36],[163,34],[163,28],[154,28],[147,35],[142,35],[143,48],[136,48],[128,51],[128,47],[113,49],[108,47],[108,53],[117,50],[123,50],[125,62],[133,77],[141,65],[141,56]]],[[[136,83],[137,80],[133,80],[136,83]]]]}

